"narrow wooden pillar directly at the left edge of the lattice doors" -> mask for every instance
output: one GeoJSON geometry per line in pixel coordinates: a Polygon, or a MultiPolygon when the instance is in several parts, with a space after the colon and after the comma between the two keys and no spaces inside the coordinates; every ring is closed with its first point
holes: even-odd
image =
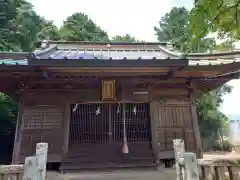
{"type": "Polygon", "coordinates": [[[63,122],[63,125],[64,125],[63,154],[68,153],[69,132],[70,132],[70,116],[71,116],[70,104],[67,103],[65,105],[64,122],[63,122]]]}

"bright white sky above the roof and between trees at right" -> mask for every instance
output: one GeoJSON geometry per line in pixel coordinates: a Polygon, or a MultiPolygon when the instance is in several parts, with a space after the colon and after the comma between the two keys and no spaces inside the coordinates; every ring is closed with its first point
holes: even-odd
{"type": "MultiPolygon", "coordinates": [[[[60,27],[75,12],[83,12],[110,37],[130,34],[139,40],[157,41],[154,26],[174,6],[190,9],[193,0],[29,0],[36,12],[60,27]]],[[[224,97],[221,110],[230,118],[240,119],[238,101],[240,80],[229,82],[232,93],[224,97]]]]}

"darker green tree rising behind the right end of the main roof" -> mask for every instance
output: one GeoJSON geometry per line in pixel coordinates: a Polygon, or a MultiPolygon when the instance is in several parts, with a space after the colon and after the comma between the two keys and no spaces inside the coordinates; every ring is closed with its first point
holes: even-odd
{"type": "Polygon", "coordinates": [[[213,38],[202,37],[193,41],[192,32],[189,31],[191,15],[184,7],[174,7],[159,21],[154,30],[159,41],[171,42],[175,49],[181,52],[212,51],[216,45],[213,38]]]}

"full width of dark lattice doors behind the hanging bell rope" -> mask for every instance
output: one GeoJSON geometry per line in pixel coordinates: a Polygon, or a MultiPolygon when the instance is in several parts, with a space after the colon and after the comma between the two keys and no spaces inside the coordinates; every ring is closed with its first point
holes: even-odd
{"type": "MultiPolygon", "coordinates": [[[[71,111],[70,146],[123,141],[123,104],[79,104],[71,111]]],[[[151,141],[148,104],[127,103],[125,113],[128,141],[151,141]]]]}

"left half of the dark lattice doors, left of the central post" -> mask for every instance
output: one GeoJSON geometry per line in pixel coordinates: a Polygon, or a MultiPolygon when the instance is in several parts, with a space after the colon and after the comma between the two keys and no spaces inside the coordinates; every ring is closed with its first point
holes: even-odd
{"type": "Polygon", "coordinates": [[[70,122],[70,145],[109,142],[108,104],[71,105],[70,122]]]}

